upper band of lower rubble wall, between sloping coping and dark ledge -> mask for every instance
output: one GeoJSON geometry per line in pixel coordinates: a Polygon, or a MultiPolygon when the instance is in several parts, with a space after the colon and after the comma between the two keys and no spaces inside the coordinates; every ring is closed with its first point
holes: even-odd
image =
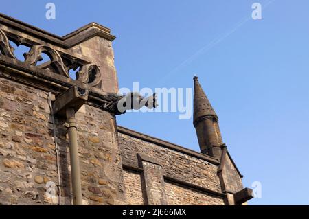
{"type": "Polygon", "coordinates": [[[119,133],[119,146],[125,164],[138,166],[137,153],[147,154],[162,163],[167,176],[221,192],[218,167],[214,164],[122,133],[119,133]]]}

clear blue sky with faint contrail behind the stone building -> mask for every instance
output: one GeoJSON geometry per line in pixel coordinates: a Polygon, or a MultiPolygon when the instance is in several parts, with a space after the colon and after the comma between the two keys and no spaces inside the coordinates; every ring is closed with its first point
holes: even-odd
{"type": "MultiPolygon", "coordinates": [[[[95,21],[110,27],[119,86],[192,87],[196,74],[223,141],[262,198],[309,204],[309,1],[4,1],[0,12],[60,36],[95,21]],[[45,5],[56,4],[56,20],[45,5]],[[262,20],[251,5],[262,4],[262,20]]],[[[199,151],[192,119],[126,113],[117,123],[199,151]]]]}

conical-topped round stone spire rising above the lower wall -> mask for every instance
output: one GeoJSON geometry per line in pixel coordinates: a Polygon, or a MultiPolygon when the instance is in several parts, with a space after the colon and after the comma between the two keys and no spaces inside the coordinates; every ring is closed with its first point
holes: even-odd
{"type": "Polygon", "coordinates": [[[198,137],[201,153],[220,159],[222,137],[218,116],[205,95],[198,78],[194,76],[193,124],[198,137]]]}

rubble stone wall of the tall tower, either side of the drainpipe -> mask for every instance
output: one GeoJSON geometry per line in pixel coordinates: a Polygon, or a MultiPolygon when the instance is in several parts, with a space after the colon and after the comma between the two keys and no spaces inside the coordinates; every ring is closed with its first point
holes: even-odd
{"type": "MultiPolygon", "coordinates": [[[[0,204],[58,203],[57,198],[46,194],[48,182],[58,186],[56,128],[61,203],[71,205],[65,120],[56,117],[53,126],[48,95],[45,91],[0,78],[0,204]]],[[[76,117],[80,126],[78,146],[84,204],[121,204],[124,184],[115,117],[88,105],[80,108],[76,117]]]]}

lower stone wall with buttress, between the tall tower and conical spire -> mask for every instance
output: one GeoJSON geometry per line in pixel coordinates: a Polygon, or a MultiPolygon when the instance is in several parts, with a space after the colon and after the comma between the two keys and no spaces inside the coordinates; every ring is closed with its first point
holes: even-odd
{"type": "Polygon", "coordinates": [[[211,163],[213,160],[209,157],[197,158],[190,150],[185,151],[187,153],[177,151],[183,150],[180,146],[172,145],[176,149],[173,150],[159,145],[160,140],[158,144],[149,142],[153,138],[147,135],[122,127],[118,130],[128,203],[138,205],[152,199],[149,201],[157,200],[163,205],[224,205],[216,174],[218,165],[211,163]],[[146,158],[141,162],[143,156],[146,158]],[[156,168],[161,168],[159,174],[163,181],[160,176],[154,177],[158,173],[156,168]],[[146,176],[144,173],[148,171],[151,174],[146,176]],[[153,186],[148,188],[147,181],[153,186]]]}

